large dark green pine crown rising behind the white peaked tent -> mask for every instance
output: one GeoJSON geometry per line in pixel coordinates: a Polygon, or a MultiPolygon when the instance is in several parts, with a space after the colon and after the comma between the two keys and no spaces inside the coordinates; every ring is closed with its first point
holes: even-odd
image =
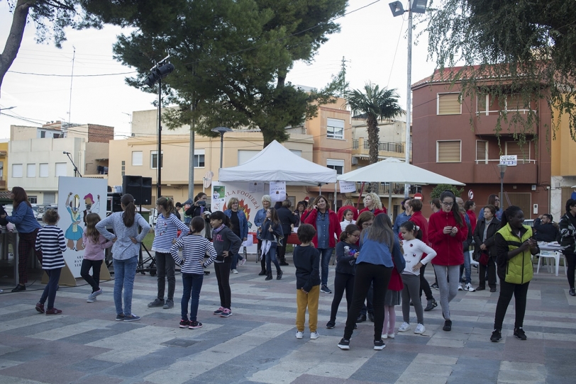
{"type": "MultiPolygon", "coordinates": [[[[346,0],[188,0],[166,15],[163,28],[146,18],[104,21],[135,26],[114,46],[116,58],[138,76],[127,83],[145,91],[143,79],[154,60],[169,52],[176,71],[166,77],[167,125],[196,121],[202,135],[218,125],[258,128],[264,143],[287,140],[285,129],[316,114],[314,101],[326,92],[292,86],[287,74],[297,60],[309,62],[328,35],[339,30],[333,18],[343,15],[346,0]]],[[[112,10],[107,11],[114,13],[112,10]]],[[[118,14],[118,13],[116,13],[118,14]]],[[[148,17],[154,18],[150,14],[148,17]]]]}

